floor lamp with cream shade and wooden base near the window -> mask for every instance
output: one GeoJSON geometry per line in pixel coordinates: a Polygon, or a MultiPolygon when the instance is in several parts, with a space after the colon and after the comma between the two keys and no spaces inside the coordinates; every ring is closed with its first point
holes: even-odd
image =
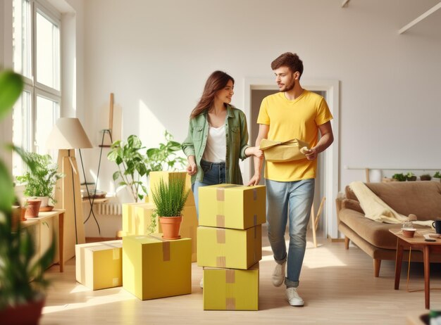
{"type": "Polygon", "coordinates": [[[64,209],[64,258],[75,256],[75,244],[85,243],[82,215],[80,174],[75,159],[75,149],[92,148],[80,120],[61,117],[47,140],[47,147],[58,149],[58,171],[66,176],[59,179],[55,191],[55,208],[64,209]]]}

